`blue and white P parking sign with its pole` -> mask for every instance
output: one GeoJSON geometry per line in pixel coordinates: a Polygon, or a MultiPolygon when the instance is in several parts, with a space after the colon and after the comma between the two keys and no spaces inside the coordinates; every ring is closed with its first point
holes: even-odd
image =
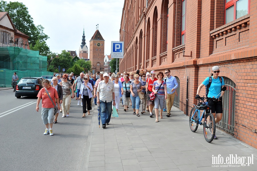
{"type": "Polygon", "coordinates": [[[116,58],[116,72],[118,66],[118,59],[123,58],[124,53],[124,42],[115,42],[112,41],[112,50],[111,50],[111,58],[116,58]]]}

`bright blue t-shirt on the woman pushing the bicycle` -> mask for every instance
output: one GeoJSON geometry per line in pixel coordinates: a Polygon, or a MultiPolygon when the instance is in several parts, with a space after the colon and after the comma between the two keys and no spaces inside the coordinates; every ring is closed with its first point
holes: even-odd
{"type": "MultiPolygon", "coordinates": [[[[218,94],[220,94],[221,92],[221,86],[225,85],[224,83],[224,79],[223,77],[222,78],[222,83],[220,83],[220,78],[216,78],[214,79],[213,76],[212,76],[212,83],[209,87],[209,93],[208,93],[208,97],[215,97],[218,96],[218,94]]],[[[208,85],[209,84],[209,77],[207,77],[203,82],[202,82],[203,85],[208,85]]],[[[217,97],[218,98],[218,97],[217,97]]]]}

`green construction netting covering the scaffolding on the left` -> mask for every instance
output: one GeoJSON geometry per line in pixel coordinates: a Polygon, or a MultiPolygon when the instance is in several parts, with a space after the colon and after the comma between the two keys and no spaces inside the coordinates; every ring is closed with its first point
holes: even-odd
{"type": "Polygon", "coordinates": [[[53,75],[47,71],[47,57],[20,47],[0,47],[0,87],[11,86],[13,73],[22,77],[53,75]]]}

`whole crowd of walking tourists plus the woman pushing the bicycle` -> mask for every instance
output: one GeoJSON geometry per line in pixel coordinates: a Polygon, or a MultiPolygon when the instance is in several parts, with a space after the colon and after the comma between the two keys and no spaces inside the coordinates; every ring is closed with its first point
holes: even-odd
{"type": "MultiPolygon", "coordinates": [[[[212,92],[214,91],[214,94],[217,94],[218,87],[224,86],[224,81],[222,83],[216,81],[219,74],[218,66],[213,67],[212,72],[212,79],[215,84],[212,84],[210,87],[209,93],[211,95],[213,95],[212,92]]],[[[170,117],[170,110],[177,94],[176,88],[178,87],[176,78],[171,76],[169,69],[166,69],[164,73],[158,72],[157,74],[155,71],[148,72],[145,70],[140,72],[137,70],[136,73],[131,72],[129,74],[127,72],[115,74],[101,71],[91,76],[84,73],[80,73],[76,77],[74,77],[73,73],[69,76],[64,74],[62,78],[59,74],[55,76],[51,83],[48,80],[44,80],[44,88],[38,93],[36,110],[39,110],[38,105],[42,98],[42,119],[46,126],[45,135],[48,133],[53,135],[52,126],[53,123],[57,123],[59,112],[63,113],[63,118],[69,117],[71,98],[74,97],[78,100],[77,105],[81,104],[83,106],[83,118],[86,116],[86,113],[90,115],[93,101],[95,105],[99,105],[103,128],[109,125],[112,106],[119,112],[120,102],[122,102],[121,106],[124,107],[123,110],[125,112],[130,111],[129,106],[132,106],[133,111],[131,110],[131,114],[136,116],[149,112],[149,116],[153,117],[154,109],[155,122],[159,122],[159,118],[163,118],[163,111],[166,111],[166,116],[170,117]],[[49,97],[55,101],[55,106],[53,106],[49,97]],[[55,116],[54,107],[58,109],[55,116]]],[[[202,86],[208,83],[207,77],[199,86],[196,98],[200,97],[198,94],[202,86]]],[[[222,100],[223,93],[221,93],[221,98],[219,98],[220,101],[222,100]]],[[[214,111],[214,116],[215,112],[217,113],[215,121],[218,122],[222,117],[222,102],[210,103],[209,106],[214,111]]]]}

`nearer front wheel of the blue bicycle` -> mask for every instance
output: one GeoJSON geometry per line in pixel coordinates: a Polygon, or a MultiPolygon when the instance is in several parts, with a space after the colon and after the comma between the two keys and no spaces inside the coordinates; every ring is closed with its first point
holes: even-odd
{"type": "Polygon", "coordinates": [[[216,131],[216,124],[213,114],[206,114],[206,123],[203,126],[203,131],[205,140],[207,142],[212,142],[216,131]]]}

